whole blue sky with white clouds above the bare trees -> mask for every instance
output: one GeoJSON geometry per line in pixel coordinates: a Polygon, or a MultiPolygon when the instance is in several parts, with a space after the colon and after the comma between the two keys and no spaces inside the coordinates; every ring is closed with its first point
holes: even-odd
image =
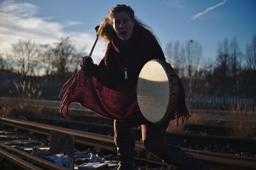
{"type": "MultiPolygon", "coordinates": [[[[90,53],[99,25],[115,4],[127,4],[154,30],[164,53],[167,44],[192,39],[202,46],[201,62],[216,60],[218,43],[237,38],[242,52],[256,34],[255,0],[7,0],[0,1],[0,52],[12,52],[19,40],[54,46],[69,37],[77,50],[90,53]]],[[[104,57],[98,41],[93,60],[104,57]]]]}

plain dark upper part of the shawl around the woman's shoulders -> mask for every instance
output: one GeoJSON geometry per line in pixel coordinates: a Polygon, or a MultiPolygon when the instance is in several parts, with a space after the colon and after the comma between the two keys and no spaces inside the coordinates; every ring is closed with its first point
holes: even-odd
{"type": "Polygon", "coordinates": [[[124,83],[136,86],[142,67],[152,59],[165,61],[163,50],[150,31],[136,25],[128,41],[114,36],[109,42],[105,56],[98,65],[97,77],[108,87],[115,88],[124,83]]]}

